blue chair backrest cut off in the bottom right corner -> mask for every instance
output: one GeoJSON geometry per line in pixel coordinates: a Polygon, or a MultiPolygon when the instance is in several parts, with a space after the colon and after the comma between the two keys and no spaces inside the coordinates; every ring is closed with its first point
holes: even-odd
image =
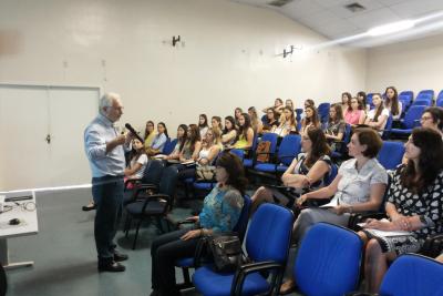
{"type": "Polygon", "coordinates": [[[443,295],[443,264],[416,254],[396,258],[381,283],[381,296],[443,295]]]}

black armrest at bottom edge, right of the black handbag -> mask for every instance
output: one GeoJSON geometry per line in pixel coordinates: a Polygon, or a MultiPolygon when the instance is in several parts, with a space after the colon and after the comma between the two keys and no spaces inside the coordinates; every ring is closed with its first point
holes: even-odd
{"type": "Polygon", "coordinates": [[[285,266],[277,263],[277,262],[259,262],[259,263],[248,263],[248,264],[244,264],[241,265],[235,276],[234,276],[234,280],[233,280],[233,286],[230,288],[230,295],[241,295],[241,289],[243,289],[243,285],[245,283],[246,276],[248,274],[251,273],[257,273],[257,272],[265,272],[265,271],[275,271],[275,273],[272,273],[272,278],[270,282],[270,290],[269,290],[269,295],[272,295],[272,290],[274,290],[274,295],[277,295],[276,293],[277,289],[279,288],[279,284],[281,283],[282,276],[284,276],[284,272],[285,272],[285,266]]]}

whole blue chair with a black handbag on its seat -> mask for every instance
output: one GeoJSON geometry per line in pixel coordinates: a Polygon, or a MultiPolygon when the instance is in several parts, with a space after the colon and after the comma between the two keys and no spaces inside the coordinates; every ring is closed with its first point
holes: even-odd
{"type": "Polygon", "coordinates": [[[246,253],[254,263],[240,266],[236,273],[218,274],[210,266],[197,268],[193,276],[197,292],[207,296],[247,296],[270,293],[274,288],[276,293],[288,256],[292,223],[290,210],[275,204],[261,205],[246,235],[246,253]],[[268,273],[270,282],[265,277],[268,273]]]}

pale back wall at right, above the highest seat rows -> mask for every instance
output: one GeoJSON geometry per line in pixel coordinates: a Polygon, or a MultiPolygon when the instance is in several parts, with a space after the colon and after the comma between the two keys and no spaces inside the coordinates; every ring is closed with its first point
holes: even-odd
{"type": "Polygon", "coordinates": [[[443,34],[368,50],[368,91],[443,89],[443,34]]]}

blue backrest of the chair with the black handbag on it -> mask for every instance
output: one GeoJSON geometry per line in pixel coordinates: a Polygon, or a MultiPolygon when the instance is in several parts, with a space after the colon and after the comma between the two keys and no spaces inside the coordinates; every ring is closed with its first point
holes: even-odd
{"type": "Polygon", "coordinates": [[[276,204],[262,204],[250,221],[246,235],[246,251],[255,262],[276,261],[285,264],[293,213],[276,204]]]}

